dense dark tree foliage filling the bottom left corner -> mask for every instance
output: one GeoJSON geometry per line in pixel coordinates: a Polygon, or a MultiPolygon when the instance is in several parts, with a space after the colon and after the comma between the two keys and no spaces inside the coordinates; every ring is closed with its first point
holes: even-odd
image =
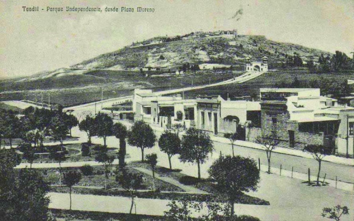
{"type": "Polygon", "coordinates": [[[1,220],[50,220],[50,190],[41,175],[27,168],[17,170],[21,157],[14,149],[0,149],[0,215],[1,220]]]}

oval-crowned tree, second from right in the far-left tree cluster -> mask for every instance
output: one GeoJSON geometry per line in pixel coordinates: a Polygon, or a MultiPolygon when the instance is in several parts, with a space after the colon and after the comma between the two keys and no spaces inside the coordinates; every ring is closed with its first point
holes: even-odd
{"type": "Polygon", "coordinates": [[[63,141],[68,133],[68,126],[65,124],[62,114],[57,114],[51,120],[51,134],[54,140],[60,142],[61,151],[63,151],[63,141]]]}

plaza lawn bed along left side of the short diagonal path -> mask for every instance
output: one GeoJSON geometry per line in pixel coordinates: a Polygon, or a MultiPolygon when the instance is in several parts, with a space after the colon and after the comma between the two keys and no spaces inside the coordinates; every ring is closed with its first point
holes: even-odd
{"type": "MultiPolygon", "coordinates": [[[[104,175],[104,167],[103,165],[99,166],[92,166],[93,167],[93,174],[90,176],[82,176],[82,179],[77,186],[90,186],[90,187],[101,187],[104,188],[105,185],[105,175],[104,175]]],[[[65,173],[69,170],[79,169],[75,167],[65,167],[62,168],[62,172],[65,173]]],[[[122,188],[121,185],[116,181],[116,176],[114,174],[116,167],[112,166],[110,168],[109,177],[107,180],[107,188],[122,188]]],[[[50,185],[59,185],[59,168],[48,168],[48,169],[36,169],[41,171],[43,174],[44,180],[48,182],[50,185]]],[[[152,176],[141,173],[133,168],[127,168],[127,171],[130,173],[138,174],[143,176],[143,182],[141,185],[141,190],[152,190],[153,189],[153,182],[154,179],[152,176]]],[[[155,179],[155,188],[160,191],[178,191],[184,192],[181,188],[169,184],[165,181],[155,179]]]]}

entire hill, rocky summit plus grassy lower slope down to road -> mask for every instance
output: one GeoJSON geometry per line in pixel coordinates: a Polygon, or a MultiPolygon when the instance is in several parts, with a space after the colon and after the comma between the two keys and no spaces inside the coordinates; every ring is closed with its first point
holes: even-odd
{"type": "Polygon", "coordinates": [[[245,58],[268,57],[269,68],[297,54],[304,62],[329,52],[281,43],[264,36],[198,32],[155,37],[85,60],[69,68],[29,77],[0,80],[1,100],[48,100],[64,106],[132,94],[135,88],[154,91],[203,85],[240,75],[245,58]],[[175,75],[183,66],[187,74],[175,75]],[[197,68],[196,68],[197,67],[197,68]],[[194,69],[193,69],[194,68],[194,69]],[[198,70],[198,74],[195,71],[198,70]],[[149,77],[146,77],[148,74],[149,77]]]}

